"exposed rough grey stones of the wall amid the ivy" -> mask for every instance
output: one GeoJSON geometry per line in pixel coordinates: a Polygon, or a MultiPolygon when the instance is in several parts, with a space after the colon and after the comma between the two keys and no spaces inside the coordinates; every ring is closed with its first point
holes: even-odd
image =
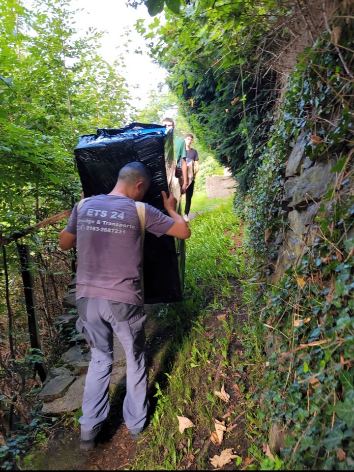
{"type": "MultiPolygon", "coordinates": [[[[297,266],[311,248],[319,235],[314,218],[328,191],[328,184],[333,184],[337,177],[335,172],[331,172],[335,159],[325,154],[312,161],[306,156],[308,145],[305,134],[301,134],[284,164],[279,210],[283,225],[276,235],[267,230],[265,234],[271,253],[269,283],[277,283],[284,272],[291,266],[297,266]]],[[[350,187],[342,191],[350,191],[350,187]]]]}

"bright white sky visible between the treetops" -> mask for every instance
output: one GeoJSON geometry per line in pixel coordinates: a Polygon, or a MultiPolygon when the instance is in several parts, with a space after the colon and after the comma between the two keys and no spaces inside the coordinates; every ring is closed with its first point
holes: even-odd
{"type": "Polygon", "coordinates": [[[72,0],[71,5],[73,10],[83,9],[75,17],[76,28],[81,29],[83,34],[89,27],[106,31],[101,39],[102,58],[112,63],[123,54],[126,65],[123,75],[130,86],[133,105],[138,109],[146,105],[149,90],[156,89],[166,76],[162,68],[152,63],[144,40],[134,28],[138,19],[145,19],[147,24],[152,22],[146,6],[134,9],[127,7],[123,0],[72,0]],[[125,35],[126,31],[130,31],[128,36],[125,35]],[[134,54],[138,48],[142,54],[134,54]],[[129,53],[125,52],[126,49],[129,53]]]}

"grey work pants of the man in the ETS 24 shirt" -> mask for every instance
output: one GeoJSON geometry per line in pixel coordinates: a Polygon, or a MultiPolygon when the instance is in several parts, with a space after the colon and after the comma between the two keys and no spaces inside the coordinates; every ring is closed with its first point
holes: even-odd
{"type": "Polygon", "coordinates": [[[77,301],[78,331],[91,345],[91,361],[86,376],[81,439],[97,436],[109,413],[109,383],[113,364],[113,332],[126,355],[126,395],[123,418],[132,434],[145,426],[148,415],[148,373],[145,364],[146,315],[142,306],[100,298],[77,301]]]}

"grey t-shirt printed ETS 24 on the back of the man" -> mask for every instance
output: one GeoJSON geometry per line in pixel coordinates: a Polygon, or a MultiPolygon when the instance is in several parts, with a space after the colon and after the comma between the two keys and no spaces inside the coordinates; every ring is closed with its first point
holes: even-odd
{"type": "MultiPolygon", "coordinates": [[[[66,231],[77,235],[76,298],[103,298],[143,305],[139,270],[141,234],[134,200],[97,195],[73,208],[66,231]]],[[[145,204],[145,229],[164,235],[175,223],[170,216],[145,204]]]]}

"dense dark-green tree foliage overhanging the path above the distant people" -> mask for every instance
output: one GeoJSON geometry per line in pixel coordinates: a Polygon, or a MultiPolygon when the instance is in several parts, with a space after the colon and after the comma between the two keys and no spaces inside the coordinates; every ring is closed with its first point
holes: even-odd
{"type": "Polygon", "coordinates": [[[178,15],[166,10],[163,24],[155,17],[148,28],[137,25],[193,132],[240,178],[241,190],[259,165],[275,96],[256,47],[270,28],[268,9],[279,11],[274,2],[188,2],[178,15]]]}

